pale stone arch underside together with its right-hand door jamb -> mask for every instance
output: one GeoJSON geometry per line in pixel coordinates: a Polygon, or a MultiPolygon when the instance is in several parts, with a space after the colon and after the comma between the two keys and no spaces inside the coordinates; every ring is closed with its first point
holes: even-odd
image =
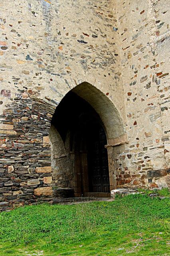
{"type": "MultiPolygon", "coordinates": [[[[91,107],[94,108],[97,114],[99,114],[99,117],[103,122],[103,128],[107,137],[107,145],[105,145],[105,148],[107,148],[108,154],[109,183],[111,191],[116,188],[116,171],[113,161],[114,147],[128,143],[123,120],[113,102],[95,86],[87,82],[83,82],[75,86],[75,88],[73,88],[71,91],[83,98],[83,100],[87,101],[91,107]]],[[[76,152],[69,153],[72,161],[74,161],[74,168],[76,168],[76,166],[79,166],[80,164],[79,160],[75,160],[76,152]]],[[[76,172],[79,173],[75,170],[75,173],[76,172]]],[[[77,182],[76,179],[75,182],[77,182]]],[[[84,185],[85,184],[83,184],[83,186],[84,185]]],[[[80,191],[75,191],[75,196],[81,196],[80,191]]]]}

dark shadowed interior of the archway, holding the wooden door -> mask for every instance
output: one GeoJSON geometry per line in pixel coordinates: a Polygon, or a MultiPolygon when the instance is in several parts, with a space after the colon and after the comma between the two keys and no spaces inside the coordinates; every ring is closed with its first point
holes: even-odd
{"type": "Polygon", "coordinates": [[[97,193],[98,196],[99,193],[106,193],[107,196],[110,192],[105,148],[107,137],[97,112],[83,98],[70,91],[56,108],[51,125],[53,135],[50,138],[55,137],[55,141],[51,138],[53,150],[59,147],[62,151],[60,156],[52,154],[55,159],[52,161],[54,176],[59,173],[56,167],[60,166],[60,172],[63,168],[67,169],[63,170],[61,177],[57,176],[55,183],[61,187],[72,187],[75,196],[88,196],[90,193],[97,193]]]}

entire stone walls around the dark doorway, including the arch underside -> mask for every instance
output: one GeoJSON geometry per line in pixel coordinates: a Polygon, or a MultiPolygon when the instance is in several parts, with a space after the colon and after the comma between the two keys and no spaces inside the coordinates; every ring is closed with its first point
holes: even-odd
{"type": "Polygon", "coordinates": [[[52,200],[51,119],[73,88],[105,124],[111,188],[170,186],[169,17],[168,0],[0,2],[1,210],[52,200]]]}

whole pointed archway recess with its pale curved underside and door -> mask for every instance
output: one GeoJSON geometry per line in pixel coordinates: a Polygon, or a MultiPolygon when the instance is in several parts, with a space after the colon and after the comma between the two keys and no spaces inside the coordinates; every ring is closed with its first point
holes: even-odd
{"type": "Polygon", "coordinates": [[[125,130],[117,108],[100,90],[85,82],[68,92],[55,110],[49,136],[57,187],[73,188],[75,196],[115,188],[109,150],[125,142],[125,130]]]}

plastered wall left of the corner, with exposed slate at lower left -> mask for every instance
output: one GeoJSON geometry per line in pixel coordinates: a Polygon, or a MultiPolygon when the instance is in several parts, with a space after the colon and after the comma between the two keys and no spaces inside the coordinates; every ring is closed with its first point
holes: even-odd
{"type": "Polygon", "coordinates": [[[47,137],[69,90],[89,82],[123,120],[125,106],[114,2],[8,0],[0,9],[0,206],[7,209],[51,200],[47,137]]]}

